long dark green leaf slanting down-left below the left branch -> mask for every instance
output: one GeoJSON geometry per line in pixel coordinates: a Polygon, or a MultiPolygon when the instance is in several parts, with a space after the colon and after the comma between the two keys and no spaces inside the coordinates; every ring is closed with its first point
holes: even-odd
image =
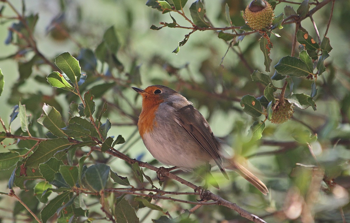
{"type": "Polygon", "coordinates": [[[34,153],[27,159],[25,166],[37,168],[39,164],[45,163],[53,157],[56,152],[64,150],[71,145],[73,145],[73,143],[70,143],[68,139],[64,138],[42,141],[34,153]]]}

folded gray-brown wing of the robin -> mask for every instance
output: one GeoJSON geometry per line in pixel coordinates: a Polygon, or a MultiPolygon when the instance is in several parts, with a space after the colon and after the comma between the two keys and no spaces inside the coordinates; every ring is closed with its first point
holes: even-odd
{"type": "Polygon", "coordinates": [[[192,105],[184,106],[178,109],[177,112],[178,114],[175,121],[188,132],[205,152],[210,154],[225,178],[228,179],[219,154],[220,143],[211,131],[207,120],[205,120],[203,115],[192,105]]]}

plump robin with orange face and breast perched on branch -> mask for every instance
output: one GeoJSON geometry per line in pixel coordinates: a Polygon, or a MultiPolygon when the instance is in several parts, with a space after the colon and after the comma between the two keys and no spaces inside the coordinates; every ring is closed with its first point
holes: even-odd
{"type": "Polygon", "coordinates": [[[254,174],[222,155],[221,143],[209,123],[184,96],[162,85],[133,89],[142,95],[139,133],[155,159],[184,171],[216,164],[227,179],[225,168],[238,172],[263,194],[268,193],[254,174]]]}

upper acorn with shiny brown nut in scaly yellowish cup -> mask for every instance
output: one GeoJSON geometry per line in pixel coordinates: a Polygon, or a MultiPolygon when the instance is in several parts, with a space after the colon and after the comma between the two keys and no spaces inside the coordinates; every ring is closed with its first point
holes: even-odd
{"type": "Polygon", "coordinates": [[[253,0],[244,11],[244,20],[252,29],[261,30],[270,26],[273,20],[271,5],[265,0],[253,0]]]}

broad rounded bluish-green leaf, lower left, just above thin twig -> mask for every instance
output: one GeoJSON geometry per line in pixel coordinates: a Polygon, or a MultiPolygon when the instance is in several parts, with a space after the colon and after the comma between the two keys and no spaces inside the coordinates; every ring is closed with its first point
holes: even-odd
{"type": "Polygon", "coordinates": [[[109,177],[110,167],[105,164],[96,164],[87,168],[82,184],[89,190],[100,191],[105,188],[108,177],[109,177]]]}

